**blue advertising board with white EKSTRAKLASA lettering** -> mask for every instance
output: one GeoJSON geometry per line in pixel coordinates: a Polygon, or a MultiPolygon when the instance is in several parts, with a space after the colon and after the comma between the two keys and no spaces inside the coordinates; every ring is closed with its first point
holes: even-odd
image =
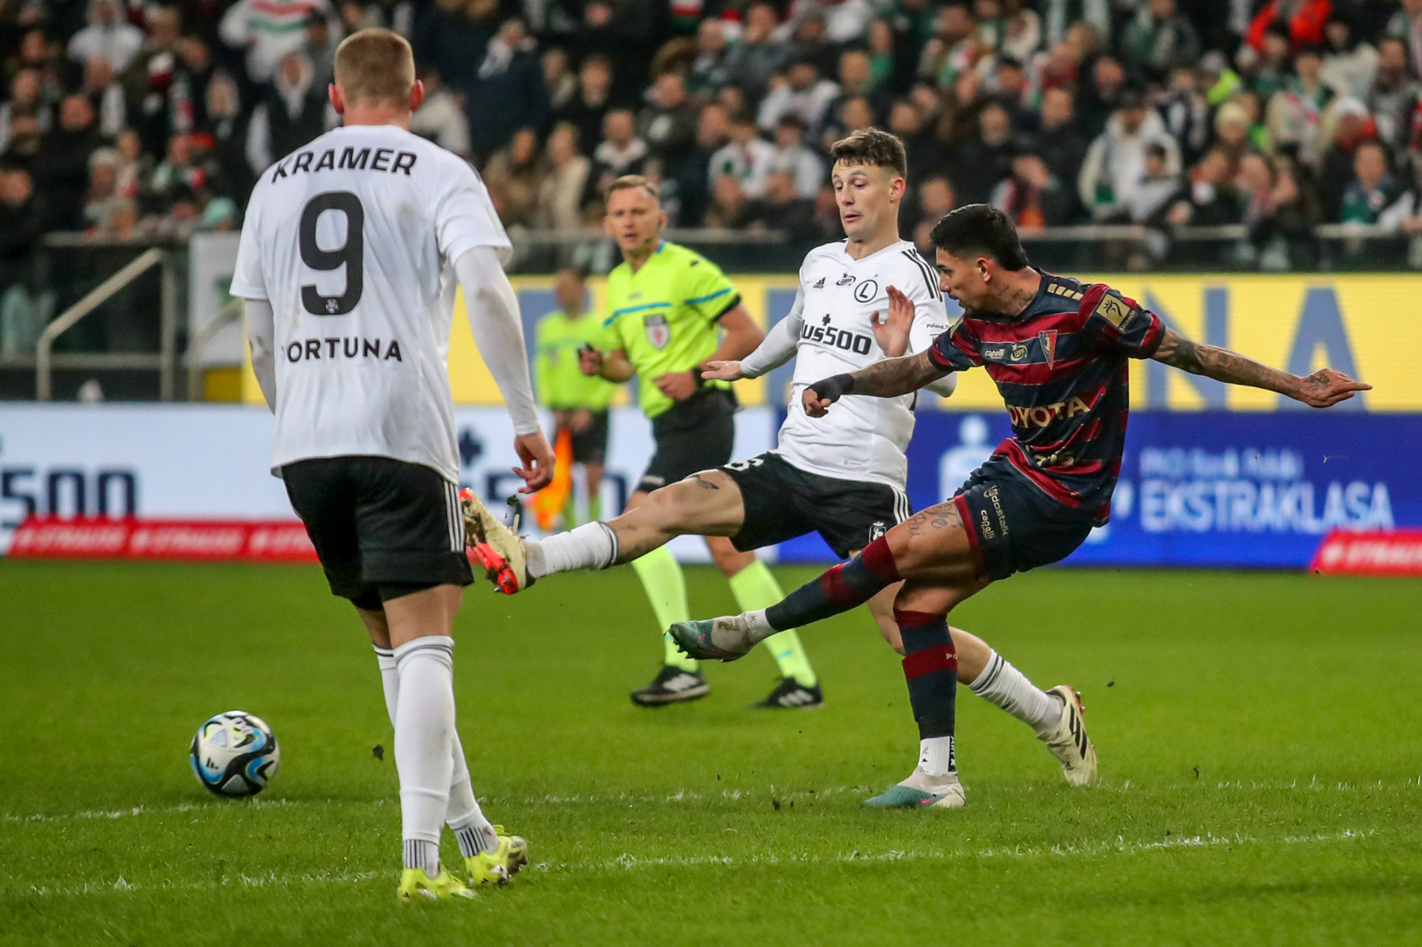
{"type": "MultiPolygon", "coordinates": [[[[1011,435],[1004,411],[924,411],[909,446],[914,509],[1011,435]]],[[[1422,414],[1135,411],[1111,522],[1066,562],[1303,569],[1332,529],[1422,526],[1422,414]]],[[[781,560],[830,556],[816,536],[781,560]]]]}

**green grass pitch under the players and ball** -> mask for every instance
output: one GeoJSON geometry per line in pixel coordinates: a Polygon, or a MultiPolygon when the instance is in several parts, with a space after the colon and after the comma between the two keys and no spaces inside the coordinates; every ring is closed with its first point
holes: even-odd
{"type": "MultiPolygon", "coordinates": [[[[732,609],[720,576],[688,584],[732,609]]],[[[1402,580],[1018,576],[954,620],[1085,692],[1102,783],[1069,789],[960,690],[968,808],[883,812],[860,801],[917,741],[867,614],[805,633],[823,710],[745,710],[772,684],[754,654],[646,711],[630,570],[475,586],[459,731],[533,865],[400,904],[380,680],[316,569],[0,563],[0,943],[1422,943],[1419,613],[1402,580]],[[233,708],[282,745],[256,801],[188,768],[233,708]]]]}

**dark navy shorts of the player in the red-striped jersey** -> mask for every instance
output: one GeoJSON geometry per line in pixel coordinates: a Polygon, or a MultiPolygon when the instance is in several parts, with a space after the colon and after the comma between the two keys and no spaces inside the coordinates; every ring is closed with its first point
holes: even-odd
{"type": "Polygon", "coordinates": [[[1092,528],[1088,518],[1042,496],[1001,456],[973,471],[953,503],[993,580],[1065,559],[1092,528]]]}

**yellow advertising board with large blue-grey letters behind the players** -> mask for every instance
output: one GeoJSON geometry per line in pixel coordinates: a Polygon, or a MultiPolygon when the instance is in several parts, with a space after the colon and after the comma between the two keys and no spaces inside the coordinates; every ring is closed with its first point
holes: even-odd
{"type": "MultiPolygon", "coordinates": [[[[778,321],[795,300],[795,276],[735,276],[751,316],[765,326],[778,321]]],[[[1155,276],[1089,277],[1109,283],[1169,326],[1197,341],[1224,346],[1266,364],[1307,374],[1332,365],[1368,381],[1368,411],[1422,411],[1422,373],[1412,361],[1422,351],[1422,274],[1368,276],[1155,276]]],[[[603,280],[590,280],[593,311],[602,311],[603,280]]],[[[552,277],[515,277],[525,328],[550,311],[552,277]]],[[[762,405],[784,397],[786,368],[738,382],[741,404],[762,405]],[[772,394],[774,392],[774,394],[772,394]]],[[[455,306],[449,338],[449,381],[458,404],[499,404],[493,378],[479,358],[464,313],[455,306]]],[[[1130,395],[1136,408],[1172,411],[1271,411],[1278,395],[1257,388],[1226,387],[1158,363],[1132,363],[1130,395]]],[[[619,394],[626,404],[627,390],[619,394]]],[[[243,400],[260,402],[256,380],[246,370],[243,400]]],[[[931,401],[930,401],[931,404],[931,401]]],[[[951,401],[937,407],[995,408],[1003,401],[985,373],[968,371],[951,401]]]]}

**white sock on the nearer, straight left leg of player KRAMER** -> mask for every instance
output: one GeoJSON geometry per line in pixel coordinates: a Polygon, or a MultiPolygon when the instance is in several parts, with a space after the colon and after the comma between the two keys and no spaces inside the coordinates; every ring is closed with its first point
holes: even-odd
{"type": "Polygon", "coordinates": [[[395,648],[395,768],[405,867],[424,867],[429,874],[439,866],[439,830],[454,772],[454,640],[437,634],[407,641],[395,648]]]}

